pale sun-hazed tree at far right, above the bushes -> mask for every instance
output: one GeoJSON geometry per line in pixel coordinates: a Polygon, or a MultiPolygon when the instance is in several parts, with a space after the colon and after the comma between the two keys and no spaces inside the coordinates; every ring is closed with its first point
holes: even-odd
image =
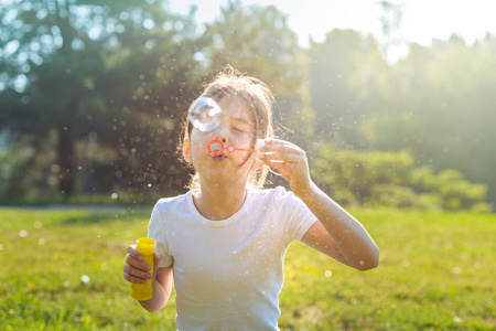
{"type": "Polygon", "coordinates": [[[430,47],[413,45],[392,68],[386,104],[367,132],[373,148],[409,148],[419,164],[436,171],[453,168],[471,181],[486,183],[488,200],[495,202],[496,158],[488,152],[496,141],[492,40],[468,46],[453,35],[430,47]]]}

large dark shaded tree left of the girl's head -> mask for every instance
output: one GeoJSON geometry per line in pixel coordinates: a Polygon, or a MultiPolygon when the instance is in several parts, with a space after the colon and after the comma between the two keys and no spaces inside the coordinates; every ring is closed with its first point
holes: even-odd
{"type": "MultiPolygon", "coordinates": [[[[32,159],[40,154],[40,142],[55,134],[63,194],[77,189],[78,143],[97,141],[107,163],[97,180],[118,172],[116,181],[125,186],[145,183],[147,177],[157,181],[166,166],[159,161],[143,170],[142,164],[174,154],[175,143],[160,140],[176,141],[181,130],[180,114],[191,94],[185,83],[196,73],[195,26],[192,13],[175,17],[163,6],[153,0],[12,0],[0,9],[0,70],[6,73],[0,76],[0,129],[33,146],[39,152],[32,159]],[[149,150],[157,145],[162,148],[154,159],[149,150]]],[[[89,166],[89,175],[98,175],[93,166],[98,164],[89,166]]]]}

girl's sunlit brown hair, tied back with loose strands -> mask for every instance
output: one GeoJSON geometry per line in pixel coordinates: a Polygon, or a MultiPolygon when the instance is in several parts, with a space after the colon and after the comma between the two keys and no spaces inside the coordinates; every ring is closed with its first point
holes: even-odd
{"type": "MultiPolygon", "coordinates": [[[[244,100],[254,115],[255,135],[251,141],[252,148],[255,148],[257,139],[273,137],[272,105],[274,96],[270,88],[260,79],[247,76],[234,67],[227,66],[205,87],[201,96],[211,97],[217,103],[229,96],[244,100]]],[[[193,130],[191,121],[187,120],[186,124],[185,139],[191,137],[193,130]]],[[[262,167],[254,167],[248,178],[249,185],[258,189],[262,188],[268,173],[269,167],[265,164],[262,167]]],[[[198,188],[197,173],[192,178],[188,188],[198,188]]]]}

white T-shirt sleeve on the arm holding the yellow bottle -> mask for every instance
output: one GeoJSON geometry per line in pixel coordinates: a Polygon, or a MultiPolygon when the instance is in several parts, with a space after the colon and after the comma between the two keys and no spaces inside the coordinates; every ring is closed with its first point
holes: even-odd
{"type": "Polygon", "coordinates": [[[157,254],[160,256],[158,266],[161,268],[169,267],[173,263],[173,257],[166,243],[166,228],[163,222],[164,212],[164,205],[159,201],[153,207],[148,227],[148,236],[157,242],[157,254]]]}

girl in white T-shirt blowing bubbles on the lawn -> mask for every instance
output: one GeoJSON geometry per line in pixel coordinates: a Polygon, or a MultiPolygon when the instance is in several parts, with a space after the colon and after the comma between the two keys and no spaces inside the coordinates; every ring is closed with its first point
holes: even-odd
{"type": "Polygon", "coordinates": [[[266,84],[230,70],[202,96],[218,103],[220,121],[212,131],[187,125],[183,156],[196,174],[186,194],[153,209],[155,274],[131,245],[123,278],[152,278],[153,297],[140,301],[150,312],[165,306],[174,279],[179,330],[279,330],[283,259],[293,239],[358,270],[377,267],[379,250],[312,182],[305,152],[272,138],[273,95],[266,84]],[[240,150],[212,153],[213,139],[240,150]],[[258,156],[257,139],[265,139],[258,156]],[[291,191],[261,189],[270,167],[291,191]]]}

